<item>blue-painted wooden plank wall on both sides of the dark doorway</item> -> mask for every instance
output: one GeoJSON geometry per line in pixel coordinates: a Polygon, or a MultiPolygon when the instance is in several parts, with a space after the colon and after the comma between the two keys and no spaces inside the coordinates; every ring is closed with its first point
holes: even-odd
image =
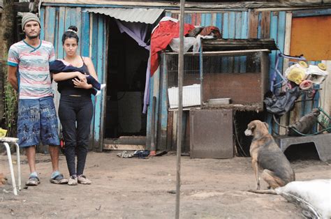
{"type": "MultiPolygon", "coordinates": [[[[103,6],[103,5],[102,5],[103,6]]],[[[84,5],[84,4],[61,4],[61,3],[44,3],[41,8],[42,33],[41,38],[54,43],[57,57],[62,58],[64,55],[61,47],[61,35],[70,25],[76,25],[79,30],[81,44],[80,52],[83,56],[91,56],[98,73],[98,79],[105,82],[105,66],[107,64],[107,29],[104,15],[95,15],[82,13],[84,7],[101,7],[101,5],[84,5]]],[[[108,6],[103,7],[121,7],[108,6]]],[[[165,8],[167,9],[167,8],[165,8]]],[[[166,16],[178,17],[179,12],[167,11],[166,16]]],[[[315,15],[320,10],[309,10],[309,13],[315,15]]],[[[300,16],[300,12],[295,13],[300,16]]],[[[279,50],[284,52],[286,12],[285,11],[255,11],[255,10],[233,10],[221,13],[188,13],[185,15],[185,22],[197,26],[214,25],[219,27],[223,33],[223,38],[274,38],[279,50]]],[[[273,73],[274,63],[276,62],[276,51],[270,54],[270,78],[273,73]]],[[[279,69],[282,69],[282,60],[279,69]]],[[[156,96],[156,127],[158,135],[157,146],[166,144],[168,109],[166,108],[166,87],[164,86],[165,75],[160,75],[156,71],[151,79],[150,85],[150,102],[152,97],[156,96]],[[158,121],[160,120],[160,122],[158,121]],[[161,124],[159,127],[157,124],[161,124]],[[163,133],[163,134],[162,134],[163,133]]],[[[103,111],[105,110],[105,96],[98,98],[95,103],[95,116],[92,122],[91,135],[94,139],[94,148],[101,148],[101,139],[103,138],[103,111]]],[[[309,104],[309,103],[308,103],[309,104]]],[[[303,105],[304,111],[311,108],[303,105]]],[[[147,113],[147,139],[150,137],[151,107],[147,113]]],[[[184,118],[185,119],[185,118],[184,118]]],[[[271,123],[271,120],[269,121],[271,123]]],[[[185,123],[183,123],[185,124],[185,123]]],[[[277,125],[274,125],[277,130],[277,125]]],[[[184,132],[183,132],[184,133],[184,132]]],[[[149,142],[147,142],[148,144],[149,142]]],[[[163,148],[163,146],[161,146],[163,148]]]]}

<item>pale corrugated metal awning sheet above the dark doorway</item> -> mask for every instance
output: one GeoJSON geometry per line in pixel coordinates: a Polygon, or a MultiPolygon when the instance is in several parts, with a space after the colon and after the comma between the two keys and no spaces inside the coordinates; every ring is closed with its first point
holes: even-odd
{"type": "Polygon", "coordinates": [[[90,8],[84,11],[108,15],[125,22],[146,24],[154,24],[163,13],[163,9],[159,8],[90,8]]]}

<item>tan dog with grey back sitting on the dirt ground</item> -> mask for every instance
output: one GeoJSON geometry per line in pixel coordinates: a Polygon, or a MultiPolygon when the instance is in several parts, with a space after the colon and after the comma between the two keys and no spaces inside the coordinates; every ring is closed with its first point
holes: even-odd
{"type": "Polygon", "coordinates": [[[270,188],[285,186],[290,181],[295,181],[295,174],[290,167],[290,162],[274,142],[268,128],[267,123],[254,120],[248,124],[247,130],[245,130],[245,135],[253,135],[249,153],[256,176],[256,190],[260,190],[260,169],[263,170],[262,178],[269,184],[270,188]]]}

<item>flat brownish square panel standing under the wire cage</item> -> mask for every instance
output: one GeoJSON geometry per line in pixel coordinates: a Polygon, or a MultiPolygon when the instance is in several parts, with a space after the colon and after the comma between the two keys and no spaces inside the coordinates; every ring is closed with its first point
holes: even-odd
{"type": "Polygon", "coordinates": [[[232,121],[232,110],[192,110],[191,158],[233,158],[232,121]]]}

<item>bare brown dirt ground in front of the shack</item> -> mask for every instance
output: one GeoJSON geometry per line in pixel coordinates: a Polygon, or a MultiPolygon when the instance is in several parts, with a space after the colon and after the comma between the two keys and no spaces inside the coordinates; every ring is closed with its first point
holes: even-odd
{"type": "MultiPolygon", "coordinates": [[[[50,157],[38,154],[41,184],[23,188],[18,196],[10,184],[1,186],[1,218],[174,218],[175,154],[138,159],[118,158],[116,153],[89,152],[85,174],[93,182],[90,186],[50,183],[50,157]]],[[[25,156],[21,159],[24,183],[29,166],[25,156]]],[[[7,156],[1,155],[0,173],[11,183],[7,162],[7,156]]],[[[328,163],[315,159],[291,164],[297,181],[331,178],[328,163]]],[[[68,176],[64,156],[60,170],[68,176]]],[[[303,218],[301,209],[279,195],[247,192],[255,188],[250,158],[183,156],[181,174],[180,218],[303,218]]]]}

